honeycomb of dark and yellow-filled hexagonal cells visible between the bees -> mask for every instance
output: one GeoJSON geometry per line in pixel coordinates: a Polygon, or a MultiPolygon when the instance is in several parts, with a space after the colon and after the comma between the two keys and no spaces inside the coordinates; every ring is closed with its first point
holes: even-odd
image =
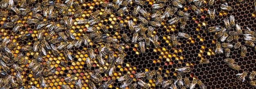
{"type": "MultiPolygon", "coordinates": [[[[2,2],[9,1],[9,0],[2,0],[2,2]]],[[[21,9],[21,3],[22,1],[27,1],[27,7],[26,8],[34,8],[38,7],[37,4],[42,4],[41,7],[43,7],[43,1],[42,0],[19,0],[16,2],[16,0],[13,0],[13,6],[17,7],[18,9],[21,9]],[[29,2],[34,2],[32,4],[29,4],[29,2]]],[[[49,0],[48,2],[54,2],[55,4],[65,4],[66,0],[49,0]]],[[[67,0],[67,1],[73,1],[73,0],[67,0]]],[[[64,25],[64,28],[59,30],[61,32],[65,32],[66,29],[70,30],[70,32],[74,35],[75,41],[78,41],[79,38],[83,38],[86,34],[89,35],[93,32],[88,32],[88,27],[91,26],[89,23],[85,24],[78,24],[79,20],[85,20],[89,19],[93,12],[98,11],[99,16],[103,15],[104,8],[101,3],[113,3],[119,1],[119,0],[83,0],[83,3],[79,3],[80,0],[74,0],[74,2],[77,2],[79,6],[81,7],[81,10],[83,10],[82,14],[78,17],[74,17],[74,14],[79,9],[75,9],[74,4],[68,7],[67,10],[65,10],[63,13],[70,12],[72,15],[68,15],[69,18],[72,18],[72,26],[68,28],[64,25]]],[[[141,5],[141,9],[144,9],[148,15],[152,15],[156,11],[164,13],[166,11],[167,7],[174,8],[175,6],[172,4],[172,0],[166,0],[162,2],[164,4],[163,8],[160,8],[158,10],[153,9],[153,4],[157,4],[156,1],[153,0],[142,0],[143,5],[141,5]]],[[[179,0],[182,1],[182,0],[179,0]]],[[[123,1],[124,2],[124,1],[123,1]]],[[[245,82],[242,82],[237,79],[236,74],[243,73],[244,71],[252,72],[256,71],[254,68],[255,59],[256,56],[255,48],[248,46],[245,43],[245,39],[243,39],[244,35],[239,35],[238,42],[241,42],[242,46],[247,47],[247,53],[245,56],[240,56],[241,48],[239,49],[233,49],[230,48],[230,58],[234,59],[235,63],[240,66],[239,70],[234,70],[229,67],[227,63],[225,63],[223,60],[226,59],[225,54],[218,54],[215,52],[216,49],[216,43],[219,42],[219,38],[217,37],[217,33],[207,33],[206,30],[208,30],[209,27],[212,26],[221,26],[222,28],[225,27],[225,23],[223,20],[226,18],[229,18],[230,15],[234,15],[235,17],[235,24],[238,24],[241,26],[243,33],[245,33],[245,30],[247,27],[249,27],[252,31],[255,30],[256,27],[256,20],[255,20],[255,3],[254,0],[243,0],[243,2],[239,2],[238,0],[226,0],[228,6],[232,7],[233,9],[231,11],[222,10],[220,7],[222,4],[225,4],[225,2],[222,2],[222,0],[216,0],[213,2],[212,6],[208,5],[208,0],[202,0],[201,7],[197,7],[200,9],[201,14],[196,15],[195,11],[191,9],[192,5],[195,5],[194,2],[189,3],[186,2],[183,5],[183,8],[179,8],[173,16],[165,17],[163,21],[160,23],[162,24],[159,27],[155,27],[153,31],[154,36],[158,36],[159,40],[157,40],[158,46],[155,47],[153,42],[150,43],[149,47],[146,47],[146,52],[141,53],[141,47],[139,47],[139,41],[138,42],[131,42],[132,37],[135,32],[132,32],[129,30],[128,21],[132,20],[133,25],[138,25],[143,22],[138,20],[138,17],[143,15],[141,13],[138,13],[136,16],[132,15],[133,11],[138,4],[134,3],[135,0],[130,2],[127,5],[127,10],[124,11],[122,14],[117,14],[117,11],[123,7],[125,7],[123,4],[119,6],[119,9],[115,10],[114,7],[108,7],[108,9],[111,10],[111,13],[108,14],[105,18],[101,18],[100,21],[92,27],[97,28],[97,33],[106,34],[108,38],[112,37],[114,39],[117,39],[117,42],[111,43],[110,49],[113,51],[115,59],[118,59],[120,57],[121,53],[124,53],[124,60],[123,63],[118,64],[115,63],[115,69],[113,70],[113,75],[109,76],[108,72],[101,73],[102,80],[100,81],[100,84],[96,84],[95,86],[97,88],[101,88],[101,85],[103,83],[106,83],[107,80],[113,80],[112,84],[108,86],[108,89],[120,89],[120,86],[123,84],[123,82],[119,82],[117,79],[121,76],[124,76],[125,74],[128,74],[130,78],[132,78],[132,84],[138,82],[139,80],[143,80],[146,82],[146,84],[149,86],[150,89],[166,89],[168,87],[171,87],[171,85],[168,85],[168,87],[163,87],[162,85],[156,85],[156,79],[157,74],[160,74],[163,78],[163,80],[171,80],[175,81],[177,80],[177,75],[179,74],[177,72],[177,69],[180,67],[191,67],[191,72],[188,73],[182,73],[182,78],[189,78],[190,82],[192,80],[201,80],[204,85],[207,87],[207,89],[234,89],[234,88],[243,88],[243,89],[253,89],[254,86],[251,86],[249,84],[248,76],[245,78],[245,82]],[[210,20],[210,15],[208,14],[207,10],[210,9],[216,9],[215,13],[215,20],[210,20]],[[176,22],[175,24],[170,25],[168,20],[171,20],[172,18],[179,16],[178,12],[183,11],[189,14],[189,20],[186,21],[186,25],[184,29],[180,28],[181,22],[176,22]],[[115,28],[115,25],[117,24],[124,24],[123,28],[115,28]],[[108,32],[105,33],[103,29],[101,28],[102,25],[106,25],[108,32]],[[178,35],[178,33],[186,33],[189,34],[190,37],[188,39],[180,37],[178,41],[178,45],[175,47],[173,46],[173,43],[171,41],[171,35],[178,35]],[[126,34],[129,38],[129,42],[125,42],[125,39],[122,37],[122,34],[126,34]],[[123,48],[122,51],[119,51],[118,49],[114,48],[114,44],[123,44],[121,46],[123,48]],[[210,63],[208,64],[202,64],[200,63],[200,60],[208,59],[210,63]],[[156,71],[156,74],[153,75],[152,79],[145,79],[145,78],[135,78],[135,74],[137,73],[143,73],[143,72],[150,72],[150,71],[156,71]]],[[[46,7],[49,7],[49,5],[46,5],[46,7]]],[[[33,47],[35,45],[36,41],[41,41],[41,39],[38,38],[38,32],[43,31],[43,39],[46,39],[45,37],[49,35],[49,31],[47,30],[45,26],[43,26],[40,29],[37,29],[38,23],[34,24],[28,24],[28,20],[32,17],[32,12],[28,12],[25,15],[18,15],[18,19],[13,22],[14,25],[10,28],[3,28],[4,23],[11,22],[13,19],[13,16],[17,15],[17,13],[13,10],[8,10],[9,7],[6,9],[1,9],[1,13],[6,12],[7,15],[1,15],[0,20],[0,35],[1,35],[1,41],[3,41],[4,38],[10,39],[11,42],[17,43],[16,46],[11,48],[11,53],[13,54],[13,57],[9,57],[10,59],[13,59],[16,57],[19,53],[24,54],[22,58],[19,60],[25,59],[28,60],[27,64],[22,64],[19,66],[22,67],[22,71],[20,72],[21,78],[22,78],[22,84],[18,84],[18,86],[24,87],[24,88],[31,88],[32,86],[35,86],[40,89],[61,89],[61,85],[67,85],[70,88],[76,88],[75,87],[75,81],[74,80],[81,80],[82,89],[90,89],[89,82],[92,82],[90,79],[91,74],[95,74],[95,69],[103,68],[108,71],[110,68],[110,64],[108,62],[109,53],[106,57],[103,57],[103,60],[105,62],[104,65],[101,65],[99,60],[94,58],[91,59],[92,67],[91,69],[88,69],[88,64],[86,63],[86,58],[90,57],[90,53],[88,53],[88,49],[94,50],[95,55],[99,55],[99,48],[98,46],[105,46],[106,41],[100,41],[99,43],[96,43],[94,41],[94,37],[92,39],[90,38],[88,40],[88,46],[85,46],[84,43],[81,43],[81,46],[75,47],[72,46],[72,48],[68,49],[71,56],[72,61],[67,61],[65,54],[63,53],[64,50],[58,50],[59,55],[55,56],[52,51],[47,51],[47,55],[43,55],[40,52],[34,52],[33,50],[29,50],[27,52],[22,52],[20,49],[25,48],[27,46],[33,47]],[[16,33],[13,29],[14,26],[16,26],[18,23],[22,23],[22,26],[16,33]],[[20,40],[19,38],[26,34],[31,33],[31,37],[26,38],[25,40],[20,40]],[[47,69],[50,67],[56,70],[53,74],[50,74],[49,76],[43,76],[44,81],[46,83],[46,87],[40,87],[40,79],[36,78],[36,76],[33,74],[33,68],[29,68],[28,66],[31,64],[31,61],[35,60],[34,55],[39,54],[43,57],[42,62],[40,65],[43,65],[43,71],[47,71],[47,69]],[[50,62],[50,65],[47,66],[47,61],[50,62]],[[67,65],[63,66],[61,65],[61,62],[66,62],[67,65]],[[70,77],[74,75],[75,78],[71,82],[66,82],[65,78],[70,77]]],[[[31,8],[31,9],[32,9],[31,8]]],[[[64,14],[58,13],[59,9],[61,8],[55,8],[53,13],[57,13],[58,16],[48,19],[49,15],[43,16],[43,9],[38,14],[43,16],[43,20],[40,20],[40,22],[47,21],[47,24],[54,24],[55,22],[59,23],[61,20],[63,20],[64,14]]],[[[49,13],[49,12],[48,12],[49,13]]],[[[180,16],[182,17],[182,16],[180,16]]],[[[38,18],[42,19],[42,18],[38,18]]],[[[148,22],[152,22],[153,20],[148,17],[146,18],[148,22]]],[[[57,27],[61,28],[63,24],[58,24],[57,27]]],[[[145,28],[148,28],[148,26],[151,26],[150,24],[144,24],[145,28]]],[[[57,29],[57,28],[54,28],[57,29]]],[[[236,27],[232,27],[229,31],[236,30],[236,27]]],[[[148,31],[146,31],[148,33],[148,31]]],[[[51,39],[57,38],[60,36],[57,32],[52,36],[51,39]]],[[[105,40],[105,39],[104,39],[105,40]]],[[[50,40],[46,40],[48,44],[51,44],[52,42],[50,40]]],[[[145,40],[142,40],[145,41],[145,40]]],[[[72,44],[72,40],[68,39],[67,43],[72,44]]],[[[223,43],[223,42],[221,42],[223,43]]],[[[236,41],[231,41],[233,45],[235,45],[236,41]]],[[[1,43],[2,44],[2,43],[1,43]]],[[[55,47],[59,46],[60,43],[54,44],[55,47]]],[[[2,46],[2,45],[1,45],[2,46]]],[[[224,50],[224,49],[223,49],[224,50]]],[[[4,50],[1,52],[2,55],[4,55],[4,50]]],[[[3,58],[1,57],[3,60],[3,58]]],[[[17,64],[17,62],[11,62],[12,64],[17,64]]],[[[2,65],[2,64],[1,64],[2,65]]],[[[13,66],[8,66],[9,71],[8,75],[13,76],[15,78],[15,75],[17,74],[16,69],[13,66]]],[[[3,67],[1,66],[1,71],[3,70],[3,67]]],[[[250,74],[250,73],[249,73],[250,74]]],[[[248,75],[249,75],[248,74],[248,75]]],[[[147,75],[148,76],[148,75],[147,75]]],[[[5,80],[1,76],[1,79],[5,80]]],[[[16,79],[14,79],[16,80],[16,79]]],[[[11,81],[9,81],[11,82],[11,81]]],[[[14,81],[14,82],[17,82],[14,81]]],[[[1,87],[4,87],[3,83],[0,83],[1,87]]],[[[16,86],[16,87],[18,87],[16,86]]],[[[126,89],[128,89],[131,85],[128,85],[126,89]]],[[[16,88],[11,87],[11,88],[16,88]]],[[[195,88],[199,88],[200,86],[198,84],[195,85],[195,88]]],[[[137,86],[136,88],[141,89],[143,87],[137,86]]],[[[180,89],[180,86],[177,86],[178,89],[180,89]]]]}

